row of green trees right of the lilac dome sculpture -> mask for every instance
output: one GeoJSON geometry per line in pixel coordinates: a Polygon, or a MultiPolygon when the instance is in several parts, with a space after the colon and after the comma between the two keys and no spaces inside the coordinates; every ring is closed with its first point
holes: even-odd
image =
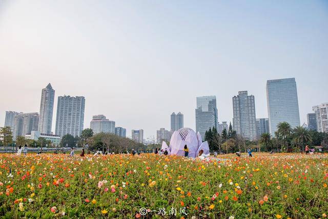
{"type": "Polygon", "coordinates": [[[328,133],[309,131],[302,126],[292,128],[289,123],[279,123],[275,137],[270,133],[263,133],[256,141],[249,141],[233,130],[229,125],[228,130],[224,129],[218,133],[213,127],[205,133],[205,141],[208,141],[210,151],[225,152],[246,152],[247,148],[258,151],[304,151],[305,145],[323,146],[328,150],[328,133]]]}

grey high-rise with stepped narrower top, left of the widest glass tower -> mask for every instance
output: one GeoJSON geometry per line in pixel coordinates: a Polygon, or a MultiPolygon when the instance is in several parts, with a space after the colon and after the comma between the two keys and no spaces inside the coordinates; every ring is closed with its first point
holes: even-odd
{"type": "Polygon", "coordinates": [[[237,134],[248,140],[256,139],[256,116],[255,99],[248,96],[247,91],[239,91],[237,96],[232,97],[233,103],[233,128],[237,134]]]}

